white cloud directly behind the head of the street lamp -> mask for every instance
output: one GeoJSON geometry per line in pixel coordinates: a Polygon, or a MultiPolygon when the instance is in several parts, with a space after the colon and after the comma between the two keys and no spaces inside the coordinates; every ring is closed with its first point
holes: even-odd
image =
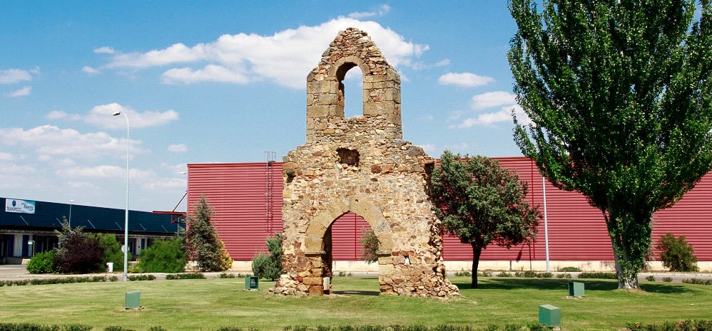
{"type": "Polygon", "coordinates": [[[114,112],[118,111],[126,112],[129,125],[131,125],[132,129],[164,125],[168,122],[178,120],[178,112],[175,110],[166,110],[165,112],[147,110],[145,112],[138,112],[128,106],[119,105],[118,103],[109,103],[107,105],[98,105],[91,108],[88,115],[84,117],[84,122],[107,129],[126,129],[126,120],[112,116],[114,112]]]}

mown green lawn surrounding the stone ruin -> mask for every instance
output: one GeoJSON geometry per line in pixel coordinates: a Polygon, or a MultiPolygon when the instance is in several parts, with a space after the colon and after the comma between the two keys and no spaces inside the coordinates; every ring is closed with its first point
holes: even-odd
{"type": "MultiPolygon", "coordinates": [[[[103,330],[121,325],[168,331],[219,327],[281,330],[286,325],[486,325],[538,320],[538,306],[561,307],[562,330],[623,330],[626,322],[712,317],[712,287],[643,282],[644,293],[616,290],[614,280],[582,280],[586,298],[567,300],[565,279],[451,278],[454,300],[378,296],[376,277],[335,278],[339,295],[295,298],[242,290],[244,279],[152,280],[117,283],[27,285],[0,288],[0,322],[82,323],[103,330]],[[144,310],[123,310],[124,293],[141,290],[144,310]]],[[[269,288],[273,283],[260,283],[269,288]]]]}

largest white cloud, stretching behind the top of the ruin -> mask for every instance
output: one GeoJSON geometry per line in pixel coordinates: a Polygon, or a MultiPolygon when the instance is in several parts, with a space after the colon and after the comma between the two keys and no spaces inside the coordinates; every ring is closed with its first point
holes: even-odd
{"type": "MultiPolygon", "coordinates": [[[[383,8],[382,8],[383,9],[383,8]]],[[[389,63],[412,65],[429,46],[405,41],[403,36],[374,21],[358,21],[340,16],[317,26],[300,26],[272,36],[255,33],[223,35],[210,43],[185,46],[175,43],[146,53],[116,53],[107,68],[151,68],[178,63],[201,63],[203,68],[169,68],[163,73],[166,83],[219,81],[245,83],[245,80],[272,80],[290,88],[305,88],[305,77],[338,31],[354,26],[367,31],[389,63]]]]}

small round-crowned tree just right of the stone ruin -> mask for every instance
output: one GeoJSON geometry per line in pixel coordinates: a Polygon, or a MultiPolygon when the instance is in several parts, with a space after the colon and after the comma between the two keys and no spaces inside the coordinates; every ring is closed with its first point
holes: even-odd
{"type": "Polygon", "coordinates": [[[527,183],[495,159],[444,151],[430,195],[444,230],[472,246],[472,288],[487,245],[510,248],[536,234],[539,211],[527,201],[527,183]]]}

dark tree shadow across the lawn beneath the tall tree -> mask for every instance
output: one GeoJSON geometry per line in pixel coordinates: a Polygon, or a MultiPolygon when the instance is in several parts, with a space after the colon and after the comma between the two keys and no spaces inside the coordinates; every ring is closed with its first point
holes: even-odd
{"type": "MultiPolygon", "coordinates": [[[[616,280],[598,279],[541,279],[541,278],[484,278],[478,282],[478,289],[482,290],[568,290],[569,281],[584,283],[586,290],[617,290],[616,280]]],[[[472,289],[470,283],[455,283],[461,290],[472,289]]],[[[643,284],[641,288],[650,293],[673,294],[673,293],[697,293],[695,290],[683,285],[673,284],[643,284]]]]}

